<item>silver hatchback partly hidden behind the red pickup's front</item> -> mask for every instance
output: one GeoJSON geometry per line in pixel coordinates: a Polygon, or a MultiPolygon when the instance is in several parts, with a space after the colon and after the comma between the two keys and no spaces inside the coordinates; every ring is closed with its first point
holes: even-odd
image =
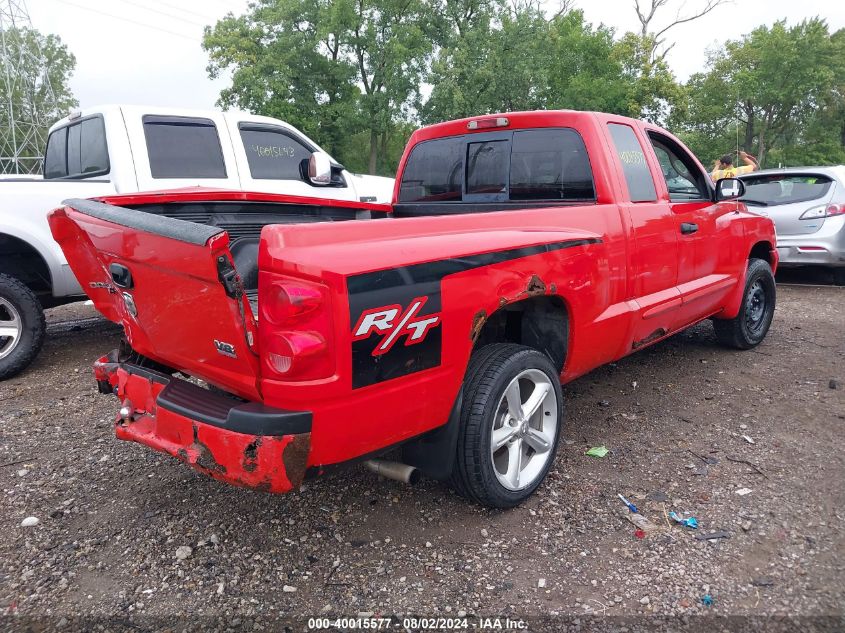
{"type": "Polygon", "coordinates": [[[740,179],[745,204],[775,223],[781,266],[827,266],[845,285],[845,165],[766,169],[740,179]]]}

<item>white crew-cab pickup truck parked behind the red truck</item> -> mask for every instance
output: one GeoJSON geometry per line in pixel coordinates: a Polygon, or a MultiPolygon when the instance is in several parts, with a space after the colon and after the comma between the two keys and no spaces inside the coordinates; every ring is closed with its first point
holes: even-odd
{"type": "Polygon", "coordinates": [[[330,157],[326,182],[309,180],[314,152],[322,150],[284,121],[243,112],[104,106],[53,125],[43,179],[0,180],[0,380],[37,355],[43,308],[83,296],[47,226],[62,200],[204,186],[390,201],[392,178],[350,174],[330,157]]]}

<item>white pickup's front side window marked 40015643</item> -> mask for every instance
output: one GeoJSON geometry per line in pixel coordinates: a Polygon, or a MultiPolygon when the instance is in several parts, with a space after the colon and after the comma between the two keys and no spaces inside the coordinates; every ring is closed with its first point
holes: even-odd
{"type": "Polygon", "coordinates": [[[249,173],[255,180],[301,180],[300,165],[314,148],[286,130],[265,125],[241,125],[249,173]]]}

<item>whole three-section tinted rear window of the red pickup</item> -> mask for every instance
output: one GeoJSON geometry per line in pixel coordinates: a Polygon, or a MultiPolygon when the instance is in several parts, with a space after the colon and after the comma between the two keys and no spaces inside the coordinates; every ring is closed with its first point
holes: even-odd
{"type": "Polygon", "coordinates": [[[581,135],[571,128],[468,134],[424,141],[411,151],[400,203],[484,200],[595,200],[581,135]]]}

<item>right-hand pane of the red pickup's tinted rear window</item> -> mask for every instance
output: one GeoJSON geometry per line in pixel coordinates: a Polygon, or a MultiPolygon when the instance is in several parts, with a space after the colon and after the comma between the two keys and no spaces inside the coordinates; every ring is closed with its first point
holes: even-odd
{"type": "Polygon", "coordinates": [[[595,200],[593,172],[581,135],[570,129],[515,132],[511,200],[595,200]]]}

